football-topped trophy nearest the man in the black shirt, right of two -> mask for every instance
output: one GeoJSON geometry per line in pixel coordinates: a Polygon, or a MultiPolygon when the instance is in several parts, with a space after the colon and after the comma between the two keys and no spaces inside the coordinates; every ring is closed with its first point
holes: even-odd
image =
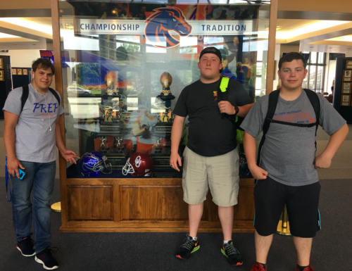
{"type": "Polygon", "coordinates": [[[160,77],[160,82],[163,90],[156,98],[161,99],[161,101],[164,102],[164,106],[161,106],[161,112],[160,115],[158,115],[158,122],[156,123],[154,133],[156,137],[156,148],[151,152],[151,156],[154,160],[154,168],[170,169],[170,139],[172,123],[175,118],[175,115],[172,114],[171,111],[171,101],[175,99],[175,96],[173,96],[170,91],[170,85],[172,84],[172,76],[170,73],[163,73],[160,77]],[[162,142],[164,146],[161,146],[162,142]]]}

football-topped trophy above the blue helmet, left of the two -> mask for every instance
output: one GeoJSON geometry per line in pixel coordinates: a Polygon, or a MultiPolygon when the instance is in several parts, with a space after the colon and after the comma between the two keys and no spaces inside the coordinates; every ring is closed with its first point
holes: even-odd
{"type": "Polygon", "coordinates": [[[124,122],[120,121],[120,97],[115,84],[118,77],[114,72],[108,72],[104,77],[106,92],[101,99],[100,131],[98,137],[101,140],[99,151],[106,156],[113,170],[121,169],[128,158],[129,151],[122,143],[124,134],[124,122]]]}

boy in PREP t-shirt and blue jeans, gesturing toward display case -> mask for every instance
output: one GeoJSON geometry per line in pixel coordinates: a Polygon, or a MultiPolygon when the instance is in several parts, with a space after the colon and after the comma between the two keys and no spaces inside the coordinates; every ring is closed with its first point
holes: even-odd
{"type": "Polygon", "coordinates": [[[55,73],[54,65],[45,58],[32,64],[33,81],[28,85],[28,98],[22,108],[22,87],[8,94],[4,111],[4,143],[7,168],[13,184],[12,210],[17,248],[23,256],[35,255],[45,269],[56,269],[51,255],[50,200],[53,196],[56,172],[56,148],[67,162],[79,158],[65,148],[61,137],[59,116],[63,114],[60,94],[49,89],[55,73]],[[52,92],[51,92],[52,91],[52,92]],[[25,177],[19,179],[19,170],[25,177]],[[16,176],[17,175],[17,176],[16,176]],[[31,191],[33,203],[30,201],[31,191]],[[30,228],[34,226],[35,242],[30,228]],[[34,245],[33,245],[34,243],[34,245]]]}

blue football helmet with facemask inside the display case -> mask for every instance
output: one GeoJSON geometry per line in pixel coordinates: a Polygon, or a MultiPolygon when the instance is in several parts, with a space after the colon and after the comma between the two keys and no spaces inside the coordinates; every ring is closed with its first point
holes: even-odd
{"type": "Polygon", "coordinates": [[[109,174],[113,171],[113,168],[108,158],[99,151],[89,151],[84,153],[80,159],[80,170],[84,176],[98,177],[100,172],[109,174]]]}

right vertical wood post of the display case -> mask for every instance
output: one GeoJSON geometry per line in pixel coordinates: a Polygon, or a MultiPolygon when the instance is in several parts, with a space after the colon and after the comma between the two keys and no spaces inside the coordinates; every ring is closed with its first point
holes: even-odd
{"type": "Polygon", "coordinates": [[[275,42],[276,42],[276,21],[277,21],[277,0],[270,2],[270,20],[269,20],[269,40],[268,40],[268,64],[266,70],[266,87],[265,94],[270,94],[273,89],[275,73],[275,42]]]}

